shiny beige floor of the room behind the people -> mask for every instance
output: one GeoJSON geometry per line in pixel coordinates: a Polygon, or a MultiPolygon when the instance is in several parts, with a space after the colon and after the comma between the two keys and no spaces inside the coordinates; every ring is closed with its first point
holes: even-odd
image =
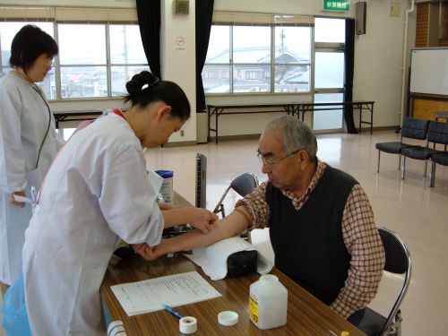
{"type": "MultiPolygon", "coordinates": [[[[409,246],[412,256],[412,282],[401,305],[403,335],[448,334],[448,168],[437,167],[435,188],[423,177],[423,164],[409,159],[407,177],[401,181],[398,157],[382,155],[381,171],[376,173],[375,142],[394,141],[393,132],[370,134],[326,134],[318,136],[318,156],[333,167],[356,177],[363,185],[375,211],[377,225],[398,232],[409,246]]],[[[237,175],[254,172],[265,180],[256,159],[257,142],[228,141],[191,147],[150,150],[151,169],[175,171],[174,187],[194,202],[195,155],[207,157],[207,207],[212,209],[220,194],[237,175]]],[[[228,203],[237,196],[230,194],[228,203]]],[[[230,204],[231,205],[231,204],[230,204]]],[[[272,256],[265,231],[253,235],[254,243],[272,256]]],[[[399,278],[383,277],[380,293],[372,306],[386,313],[399,278]]],[[[2,331],[0,335],[3,336],[2,331]]]]}

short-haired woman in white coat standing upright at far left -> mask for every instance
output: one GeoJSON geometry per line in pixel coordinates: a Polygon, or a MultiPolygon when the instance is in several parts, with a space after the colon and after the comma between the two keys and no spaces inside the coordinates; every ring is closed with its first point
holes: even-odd
{"type": "Polygon", "coordinates": [[[43,92],[36,85],[51,70],[56,41],[33,25],[19,30],[11,46],[13,71],[0,79],[0,282],[11,285],[22,272],[25,228],[31,218],[30,197],[39,189],[62,139],[43,92]]]}

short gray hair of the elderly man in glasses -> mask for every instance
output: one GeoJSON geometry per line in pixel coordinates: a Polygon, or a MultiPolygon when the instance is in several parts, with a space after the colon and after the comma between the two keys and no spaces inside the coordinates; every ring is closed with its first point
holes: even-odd
{"type": "Polygon", "coordinates": [[[271,130],[280,131],[285,152],[292,153],[300,149],[308,152],[315,161],[317,153],[317,140],[313,131],[294,116],[277,116],[264,126],[263,133],[271,130]]]}

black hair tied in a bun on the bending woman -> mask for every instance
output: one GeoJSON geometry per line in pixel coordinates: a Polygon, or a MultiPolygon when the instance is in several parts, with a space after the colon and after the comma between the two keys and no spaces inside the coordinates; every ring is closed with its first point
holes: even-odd
{"type": "Polygon", "coordinates": [[[132,106],[146,108],[149,104],[163,101],[171,107],[171,116],[187,120],[190,117],[190,102],[184,90],[175,82],[160,81],[148,71],[134,74],[131,81],[126,82],[125,102],[131,101],[132,106]]]}

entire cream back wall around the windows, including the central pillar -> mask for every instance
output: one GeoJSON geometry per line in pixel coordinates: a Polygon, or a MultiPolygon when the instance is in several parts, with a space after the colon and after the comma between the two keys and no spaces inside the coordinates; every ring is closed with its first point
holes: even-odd
{"type": "MultiPolygon", "coordinates": [[[[240,11],[257,13],[311,14],[318,16],[354,17],[356,0],[351,1],[348,14],[321,11],[322,0],[215,0],[217,11],[240,11]],[[254,4],[256,3],[256,7],[254,4]]],[[[354,99],[375,100],[374,126],[400,125],[402,47],[404,37],[405,10],[408,0],[393,0],[401,4],[400,17],[389,15],[391,1],[367,0],[366,34],[355,41],[354,99]]],[[[51,0],[0,0],[0,4],[57,4],[51,0]]],[[[65,0],[65,5],[99,7],[135,7],[135,0],[65,0]]],[[[164,79],[179,83],[190,99],[195,110],[194,92],[194,0],[190,0],[189,15],[173,15],[172,0],[162,1],[162,55],[161,66],[164,79]],[[176,48],[177,36],[185,37],[185,49],[176,48]]],[[[408,49],[414,46],[415,13],[409,18],[408,49]]],[[[407,52],[409,55],[409,51],[407,52]]],[[[310,101],[312,96],[297,95],[238,95],[234,97],[207,96],[208,103],[220,102],[270,102],[270,101],[310,101]]],[[[121,104],[119,100],[89,100],[52,103],[57,109],[112,108],[121,104]]],[[[357,118],[355,113],[355,118],[357,118]]],[[[275,116],[275,115],[273,115],[275,116]]],[[[222,116],[220,135],[259,134],[271,115],[222,116]]],[[[356,120],[355,120],[356,121],[356,120]]],[[[185,126],[185,136],[178,134],[172,141],[193,141],[195,139],[195,116],[185,126]]]]}

